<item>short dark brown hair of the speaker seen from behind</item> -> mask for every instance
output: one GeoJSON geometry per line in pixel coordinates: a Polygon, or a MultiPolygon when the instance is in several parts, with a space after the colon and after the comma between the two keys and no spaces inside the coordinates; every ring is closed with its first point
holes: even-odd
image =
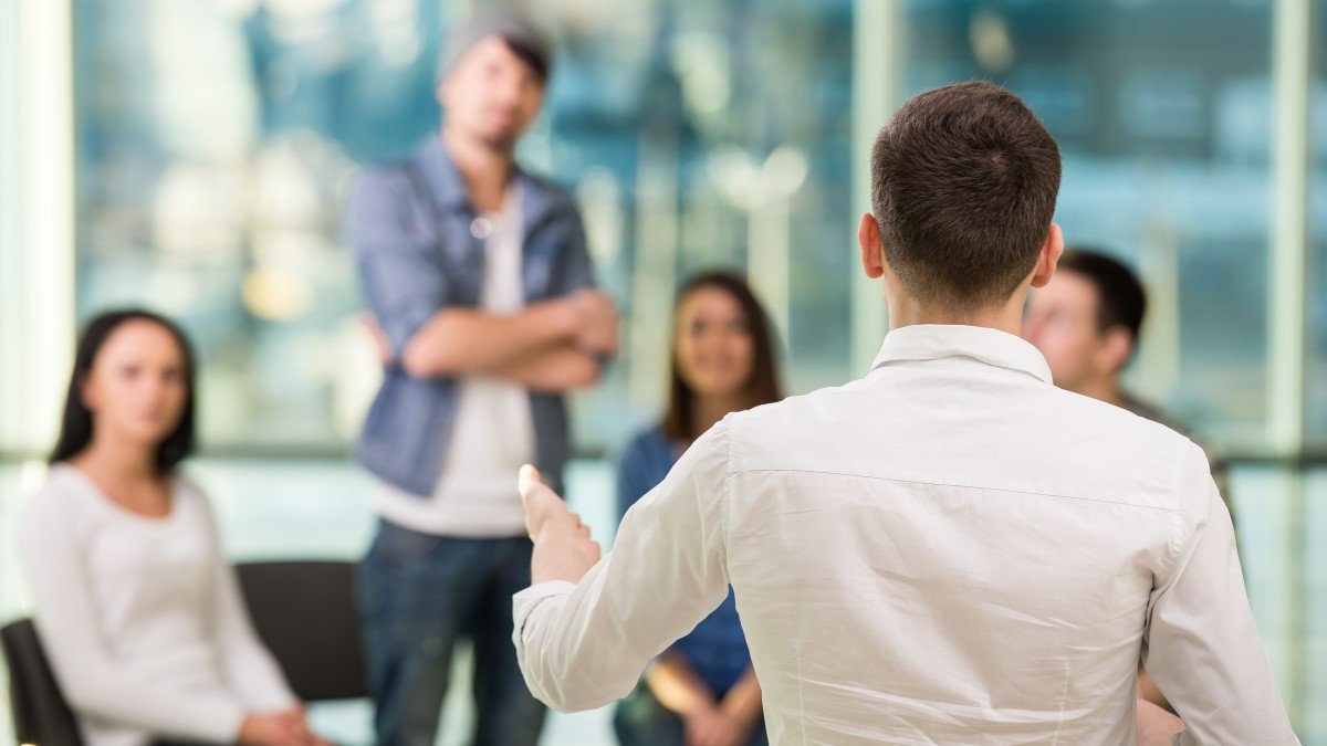
{"type": "Polygon", "coordinates": [[[1036,265],[1060,188],[1060,150],[1009,90],[949,85],[904,104],[871,151],[885,259],[918,300],[977,311],[1036,265]]]}

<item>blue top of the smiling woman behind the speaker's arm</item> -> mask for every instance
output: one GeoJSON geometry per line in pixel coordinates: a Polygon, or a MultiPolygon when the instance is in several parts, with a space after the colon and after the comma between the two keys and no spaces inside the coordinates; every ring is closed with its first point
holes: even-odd
{"type": "MultiPolygon", "coordinates": [[[[646,492],[667,477],[682,455],[656,426],[645,430],[628,443],[617,466],[617,508],[621,515],[646,492]]],[[[733,689],[738,678],[751,666],[751,652],[742,633],[738,605],[729,588],[729,597],[705,617],[690,634],[669,648],[686,658],[695,673],[718,697],[733,689]]]]}

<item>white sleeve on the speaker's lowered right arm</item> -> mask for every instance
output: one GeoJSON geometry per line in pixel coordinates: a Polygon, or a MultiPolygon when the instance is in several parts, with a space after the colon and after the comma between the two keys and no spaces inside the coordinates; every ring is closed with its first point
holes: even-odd
{"type": "Polygon", "coordinates": [[[1184,718],[1176,743],[1299,743],[1249,608],[1230,512],[1197,446],[1181,490],[1196,528],[1157,580],[1143,646],[1148,673],[1184,718]]]}

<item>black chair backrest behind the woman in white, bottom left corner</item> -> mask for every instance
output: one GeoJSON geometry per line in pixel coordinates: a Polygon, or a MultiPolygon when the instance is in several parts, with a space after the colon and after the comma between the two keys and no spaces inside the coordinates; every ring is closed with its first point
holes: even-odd
{"type": "Polygon", "coordinates": [[[4,661],[9,670],[9,710],[17,743],[82,746],[78,721],[65,702],[46,662],[41,637],[31,619],[0,629],[4,661]]]}

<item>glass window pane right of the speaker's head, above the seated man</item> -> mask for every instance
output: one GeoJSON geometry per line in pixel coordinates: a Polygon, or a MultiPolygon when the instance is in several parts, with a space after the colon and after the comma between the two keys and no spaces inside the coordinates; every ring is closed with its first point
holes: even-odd
{"type": "Polygon", "coordinates": [[[1151,308],[1129,384],[1225,449],[1265,438],[1267,4],[905,4],[904,94],[1007,85],[1059,141],[1070,246],[1120,256],[1151,308]]]}

